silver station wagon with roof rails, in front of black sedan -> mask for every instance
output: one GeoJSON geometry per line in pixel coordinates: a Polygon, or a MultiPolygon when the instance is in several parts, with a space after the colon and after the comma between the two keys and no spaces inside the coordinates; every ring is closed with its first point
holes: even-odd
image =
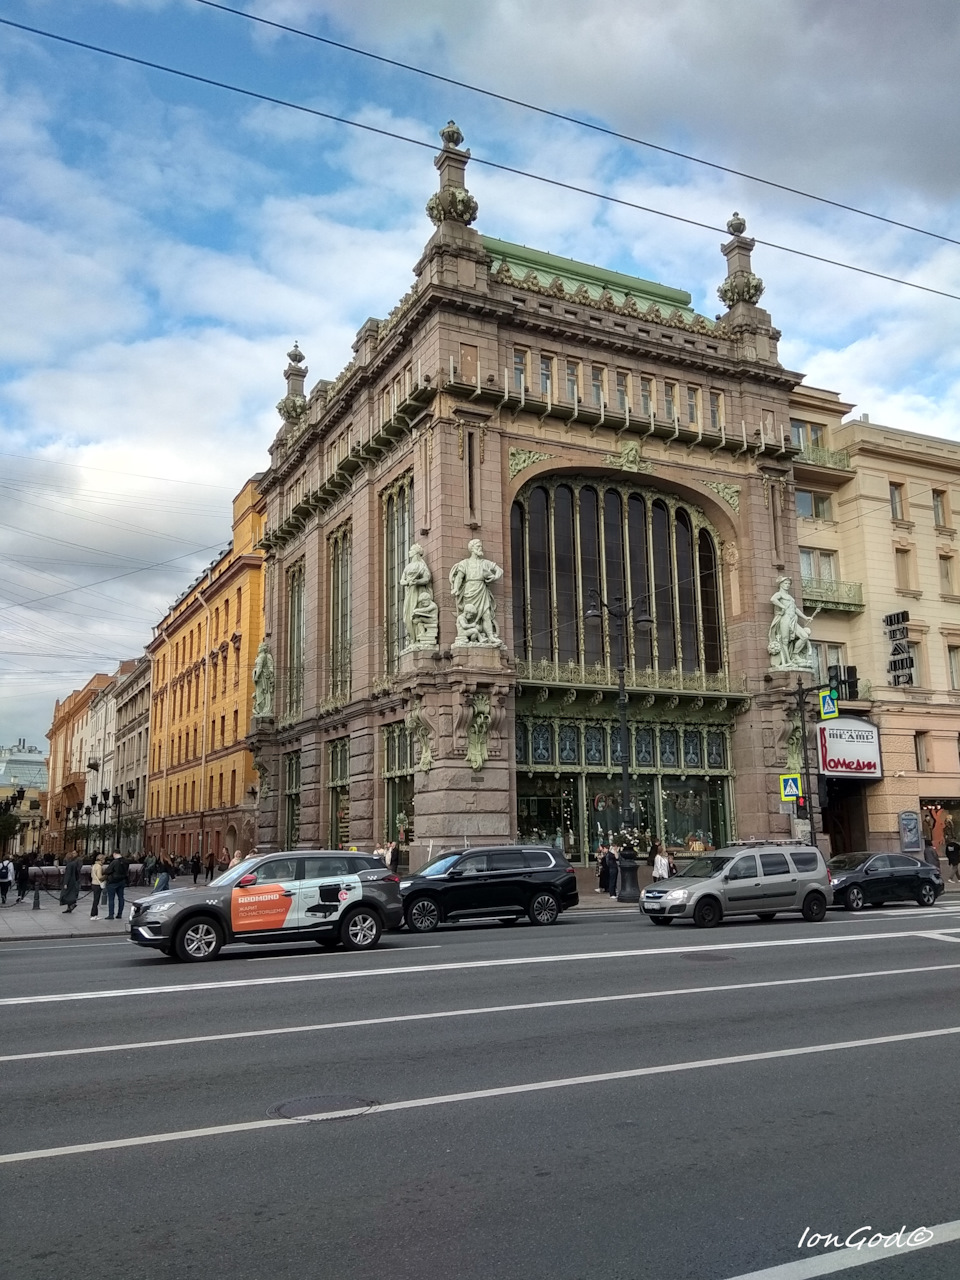
{"type": "Polygon", "coordinates": [[[805,920],[822,920],[829,896],[819,850],[758,841],[704,854],[678,876],[655,881],[640,895],[640,910],[654,924],[692,920],[710,929],[724,915],[772,920],[780,911],[799,911],[805,920]]]}

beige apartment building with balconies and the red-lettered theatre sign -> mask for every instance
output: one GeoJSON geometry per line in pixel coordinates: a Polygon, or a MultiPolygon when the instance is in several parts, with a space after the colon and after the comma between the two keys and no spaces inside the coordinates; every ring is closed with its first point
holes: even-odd
{"type": "Polygon", "coordinates": [[[818,678],[856,667],[859,701],[841,712],[874,726],[879,746],[874,759],[864,739],[854,762],[876,773],[826,773],[823,824],[836,849],[897,849],[899,815],[929,809],[942,846],[951,820],[960,831],[960,444],[841,421],[850,408],[812,388],[791,398],[818,678]]]}

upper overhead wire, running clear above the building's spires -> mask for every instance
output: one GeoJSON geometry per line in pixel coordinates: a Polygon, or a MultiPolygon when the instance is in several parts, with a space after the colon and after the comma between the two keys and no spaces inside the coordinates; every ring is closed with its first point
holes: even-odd
{"type": "Polygon", "coordinates": [[[576,115],[567,115],[563,111],[553,111],[548,106],[539,106],[536,102],[527,102],[521,97],[511,97],[508,93],[498,93],[495,90],[484,88],[481,84],[468,84],[466,81],[453,76],[442,76],[439,72],[428,70],[425,67],[413,67],[411,63],[402,63],[396,58],[385,58],[383,54],[374,54],[369,49],[360,49],[357,45],[347,45],[340,40],[332,40],[329,36],[319,36],[315,31],[303,31],[300,27],[291,27],[284,22],[275,22],[271,18],[261,18],[256,13],[246,13],[243,9],[233,9],[227,4],[218,4],[216,0],[196,0],[206,9],[219,9],[221,13],[230,13],[237,18],[246,18],[247,22],[259,23],[261,27],[274,27],[276,31],[285,31],[291,36],[302,36],[319,45],[329,45],[330,49],[342,49],[347,54],[356,54],[358,58],[369,58],[371,61],[383,63],[385,67],[396,67],[399,70],[412,72],[415,76],[424,76],[428,79],[438,81],[440,84],[452,84],[456,88],[467,90],[470,93],[480,93],[483,97],[492,97],[498,102],[509,106],[520,106],[525,111],[535,111],[538,115],[547,115],[553,120],[563,120],[564,124],[575,124],[580,129],[590,129],[593,133],[603,133],[608,138],[618,142],[632,142],[637,147],[649,147],[650,151],[659,151],[662,155],[675,156],[677,160],[687,160],[690,164],[704,165],[707,169],[716,169],[718,173],[728,173],[735,178],[746,178],[748,182],[758,182],[764,187],[773,187],[776,191],[786,191],[791,196],[800,196],[804,200],[814,200],[820,205],[829,205],[832,209],[842,209],[849,214],[858,214],[860,218],[872,218],[874,221],[886,223],[888,227],[899,227],[905,232],[915,232],[918,236],[929,236],[931,239],[943,241],[946,244],[960,244],[952,236],[942,236],[940,232],[928,230],[924,227],[914,227],[910,223],[900,223],[895,218],[886,218],[883,214],[874,214],[868,209],[858,209],[856,205],[847,205],[842,200],[831,200],[828,196],[818,196],[814,192],[804,191],[801,187],[791,187],[785,182],[774,182],[772,178],[760,178],[755,173],[745,173],[742,169],[733,169],[730,165],[719,164],[716,160],[704,160],[703,156],[691,156],[685,151],[676,151],[673,147],[664,147],[659,142],[650,142],[646,138],[636,138],[631,133],[620,133],[593,120],[581,120],[576,115]]]}

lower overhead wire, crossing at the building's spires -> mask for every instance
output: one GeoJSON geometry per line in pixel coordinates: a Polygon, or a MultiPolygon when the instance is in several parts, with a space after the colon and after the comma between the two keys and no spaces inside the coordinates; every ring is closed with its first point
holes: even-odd
{"type": "MultiPolygon", "coordinates": [[[[362,129],[365,133],[375,133],[379,137],[392,138],[394,142],[406,142],[413,147],[421,147],[428,151],[435,151],[436,143],[425,142],[421,138],[410,138],[404,133],[396,133],[392,129],[381,129],[375,124],[365,124],[361,120],[351,120],[343,115],[334,115],[332,111],[321,111],[315,106],[305,106],[302,102],[291,102],[282,97],[273,97],[269,93],[259,93],[252,88],[243,88],[239,84],[230,84],[225,81],[211,79],[209,76],[198,76],[195,72],[186,72],[178,67],[166,67],[164,63],[154,63],[146,58],[136,58],[133,54],[122,54],[115,49],[105,49],[102,45],[91,45],[83,40],[73,40],[69,36],[60,36],[52,31],[44,31],[40,27],[28,27],[22,22],[13,22],[10,18],[0,18],[0,26],[14,27],[18,31],[26,31],[32,36],[42,36],[46,40],[55,40],[61,45],[72,45],[74,49],[84,49],[88,52],[102,54],[106,58],[115,58],[123,63],[132,63],[136,67],[146,67],[150,70],[164,72],[166,76],[177,76],[180,79],[192,81],[196,84],[209,84],[211,88],[221,88],[229,93],[238,93],[242,97],[250,97],[259,102],[270,102],[273,106],[283,106],[291,111],[302,111],[305,115],[314,115],[321,120],[330,120],[334,124],[348,124],[353,129],[362,129]]],[[[698,227],[700,230],[713,232],[719,236],[728,236],[726,228],[714,227],[712,223],[701,223],[695,218],[684,218],[681,214],[668,214],[663,209],[653,209],[649,205],[639,205],[632,200],[625,200],[621,196],[611,196],[603,191],[591,191],[589,187],[580,187],[572,182],[562,182],[559,178],[548,178],[544,174],[530,173],[527,169],[518,169],[515,165],[499,164],[495,160],[484,160],[480,156],[472,156],[472,163],[484,165],[486,169],[495,169],[499,173],[511,173],[518,178],[529,178],[532,182],[541,182],[549,187],[558,187],[561,191],[571,191],[579,196],[590,196],[594,200],[603,200],[611,205],[618,205],[622,209],[635,209],[641,214],[653,214],[657,218],[668,218],[671,221],[682,223],[686,227],[698,227]]],[[[920,293],[932,293],[940,298],[950,298],[954,302],[960,302],[960,293],[950,293],[946,289],[934,289],[929,284],[918,284],[915,280],[904,280],[897,275],[887,275],[884,271],[874,271],[867,266],[855,266],[852,262],[841,262],[833,257],[824,257],[820,253],[809,253],[806,250],[794,248],[790,244],[778,244],[774,241],[760,239],[754,237],[756,244],[763,244],[764,248],[773,248],[781,253],[791,253],[795,257],[803,257],[808,262],[820,262],[824,266],[836,266],[844,271],[855,271],[858,275],[868,275],[874,280],[886,280],[888,284],[900,284],[908,289],[916,289],[920,293]]]]}

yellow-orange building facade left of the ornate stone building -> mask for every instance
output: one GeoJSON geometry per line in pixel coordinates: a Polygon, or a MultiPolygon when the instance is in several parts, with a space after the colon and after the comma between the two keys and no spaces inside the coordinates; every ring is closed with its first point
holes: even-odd
{"type": "Polygon", "coordinates": [[[233,500],[233,538],[155,628],[146,849],[175,858],[255,842],[256,773],[246,736],[264,635],[259,476],[233,500]]]}

